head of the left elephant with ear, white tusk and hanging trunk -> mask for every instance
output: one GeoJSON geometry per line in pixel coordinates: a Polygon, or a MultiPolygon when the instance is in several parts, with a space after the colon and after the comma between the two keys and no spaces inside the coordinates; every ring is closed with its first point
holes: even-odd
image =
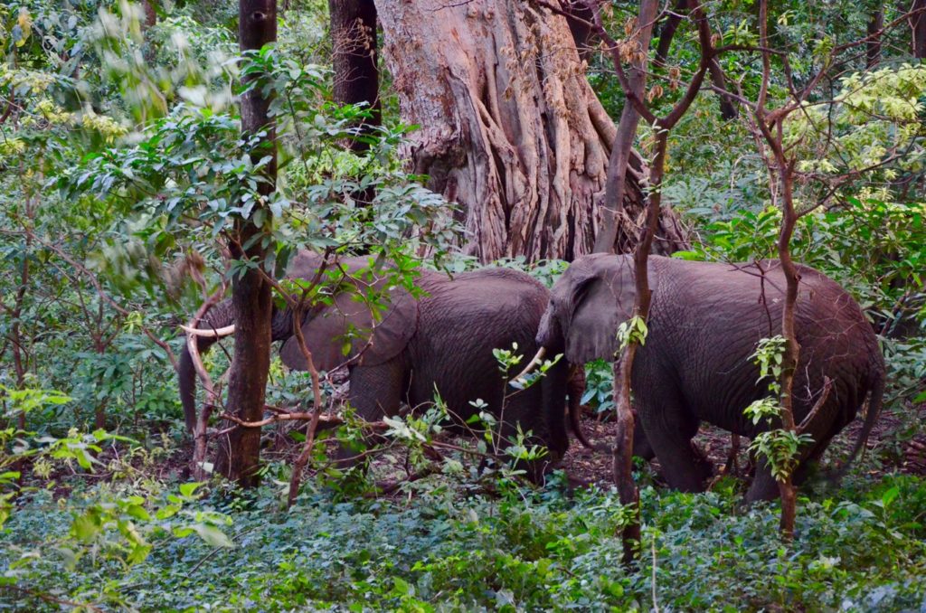
{"type": "MultiPolygon", "coordinates": [[[[317,277],[331,289],[319,293],[316,303],[305,309],[301,326],[316,369],[331,370],[341,365],[375,366],[405,349],[418,325],[415,299],[394,276],[370,265],[367,257],[350,257],[327,264],[319,275],[321,257],[300,252],[294,257],[287,277],[313,281],[317,277]]],[[[307,370],[308,363],[294,332],[293,311],[274,307],[271,338],[282,341],[280,357],[290,369],[307,370]]],[[[183,326],[197,350],[206,351],[217,339],[234,332],[232,301],[213,307],[195,328],[183,326]]],[[[196,373],[189,344],[183,346],[178,378],[187,430],[195,423],[196,373]]]]}

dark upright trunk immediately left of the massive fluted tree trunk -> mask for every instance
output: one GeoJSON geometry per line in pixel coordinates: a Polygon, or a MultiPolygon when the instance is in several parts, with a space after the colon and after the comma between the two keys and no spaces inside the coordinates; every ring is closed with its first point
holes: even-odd
{"type": "MultiPolygon", "coordinates": [[[[367,103],[373,117],[364,121],[380,125],[380,71],[376,67],[376,5],[373,0],[328,0],[332,29],[334,102],[367,103]]],[[[357,152],[369,144],[351,141],[357,152]]]]}

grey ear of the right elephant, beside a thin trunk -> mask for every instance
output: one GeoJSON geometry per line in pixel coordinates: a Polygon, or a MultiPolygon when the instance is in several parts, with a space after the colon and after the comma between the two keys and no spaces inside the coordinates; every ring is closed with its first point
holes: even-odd
{"type": "Polygon", "coordinates": [[[607,268],[578,283],[573,290],[572,315],[566,337],[566,357],[574,364],[613,360],[619,351],[618,327],[633,311],[632,261],[611,256],[607,268]]]}

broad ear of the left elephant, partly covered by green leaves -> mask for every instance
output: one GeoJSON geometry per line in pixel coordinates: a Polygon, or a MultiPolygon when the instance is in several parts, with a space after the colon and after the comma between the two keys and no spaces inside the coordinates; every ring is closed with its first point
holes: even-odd
{"type": "MultiPolygon", "coordinates": [[[[309,314],[302,333],[316,369],[334,369],[361,351],[362,355],[352,364],[375,366],[405,349],[418,327],[418,303],[399,288],[390,289],[386,296],[389,301],[380,308],[379,321],[373,319],[368,305],[353,292],[340,292],[334,296],[332,305],[309,314]],[[350,349],[345,354],[347,344],[350,349]]],[[[295,336],[283,344],[280,357],[291,369],[308,369],[295,336]]]]}

